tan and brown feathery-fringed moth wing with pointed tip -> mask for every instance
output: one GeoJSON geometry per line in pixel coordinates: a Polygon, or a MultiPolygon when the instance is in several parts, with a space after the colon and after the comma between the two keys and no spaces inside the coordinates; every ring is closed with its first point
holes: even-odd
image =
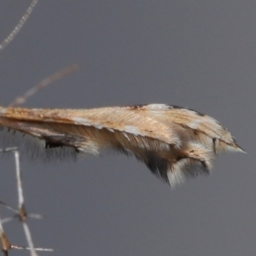
{"type": "MultiPolygon", "coordinates": [[[[171,187],[208,174],[216,155],[244,152],[216,119],[165,104],[92,109],[0,107],[0,125],[35,137],[45,152],[113,149],[134,155],[171,187]]],[[[0,131],[1,133],[1,131],[0,131]]]]}

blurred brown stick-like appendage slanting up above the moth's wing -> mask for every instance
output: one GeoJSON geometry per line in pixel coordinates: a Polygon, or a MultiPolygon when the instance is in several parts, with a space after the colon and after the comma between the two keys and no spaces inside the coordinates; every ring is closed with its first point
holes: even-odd
{"type": "Polygon", "coordinates": [[[14,106],[25,103],[29,97],[38,93],[39,90],[42,90],[47,85],[52,84],[53,82],[55,82],[59,79],[62,79],[63,77],[67,76],[70,73],[75,72],[78,69],[79,69],[79,65],[74,64],[72,66],[65,67],[61,71],[58,71],[58,72],[50,75],[48,78],[43,79],[41,82],[39,82],[38,84],[33,86],[31,89],[27,90],[23,95],[16,97],[13,102],[9,103],[8,107],[14,107],[14,106]]]}

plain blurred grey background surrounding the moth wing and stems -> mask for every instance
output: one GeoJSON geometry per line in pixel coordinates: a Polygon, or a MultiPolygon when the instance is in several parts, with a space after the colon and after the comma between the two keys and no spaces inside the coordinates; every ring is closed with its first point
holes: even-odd
{"type": "MultiPolygon", "coordinates": [[[[1,1],[1,41],[30,2],[1,1]]],[[[36,246],[54,247],[53,255],[255,255],[255,49],[255,1],[39,1],[0,52],[1,105],[78,63],[26,107],[194,108],[218,119],[247,154],[221,156],[211,176],[175,190],[120,154],[62,164],[24,158],[26,207],[47,217],[29,220],[36,246]]],[[[12,155],[1,158],[0,187],[0,199],[15,206],[12,155]]],[[[26,244],[19,224],[4,227],[26,244]]]]}

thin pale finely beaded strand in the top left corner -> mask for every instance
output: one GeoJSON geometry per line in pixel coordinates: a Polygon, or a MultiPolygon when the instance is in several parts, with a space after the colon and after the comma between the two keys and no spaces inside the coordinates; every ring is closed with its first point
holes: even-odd
{"type": "Polygon", "coordinates": [[[31,15],[32,10],[35,8],[36,4],[38,3],[38,0],[33,0],[28,9],[26,9],[25,15],[22,16],[17,26],[15,26],[15,29],[10,32],[9,36],[3,40],[3,43],[0,44],[0,50],[5,48],[17,35],[18,32],[20,32],[21,27],[25,24],[28,17],[31,15]]]}

